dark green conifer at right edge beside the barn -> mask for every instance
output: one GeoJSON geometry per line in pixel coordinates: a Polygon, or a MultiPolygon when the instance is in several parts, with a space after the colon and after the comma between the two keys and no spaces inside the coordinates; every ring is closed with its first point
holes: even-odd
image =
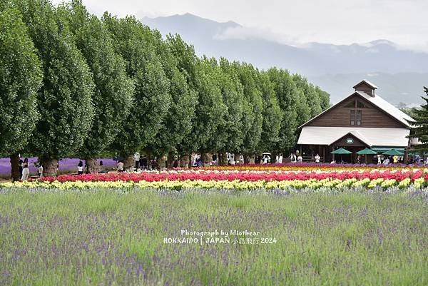
{"type": "Polygon", "coordinates": [[[422,96],[425,104],[418,109],[414,109],[413,119],[409,121],[412,126],[410,138],[418,138],[420,144],[414,145],[413,149],[421,153],[428,153],[428,88],[424,87],[426,96],[422,96]]]}

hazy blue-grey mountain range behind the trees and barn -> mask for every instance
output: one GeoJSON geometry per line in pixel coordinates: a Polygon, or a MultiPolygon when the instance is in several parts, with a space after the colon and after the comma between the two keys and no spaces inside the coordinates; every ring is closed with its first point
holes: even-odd
{"type": "Polygon", "coordinates": [[[306,76],[337,102],[352,86],[367,78],[391,103],[421,103],[428,85],[428,53],[402,50],[387,40],[367,44],[281,44],[233,21],[219,23],[192,14],[143,18],[161,34],[180,34],[199,55],[224,56],[253,63],[258,68],[277,66],[306,76]]]}

